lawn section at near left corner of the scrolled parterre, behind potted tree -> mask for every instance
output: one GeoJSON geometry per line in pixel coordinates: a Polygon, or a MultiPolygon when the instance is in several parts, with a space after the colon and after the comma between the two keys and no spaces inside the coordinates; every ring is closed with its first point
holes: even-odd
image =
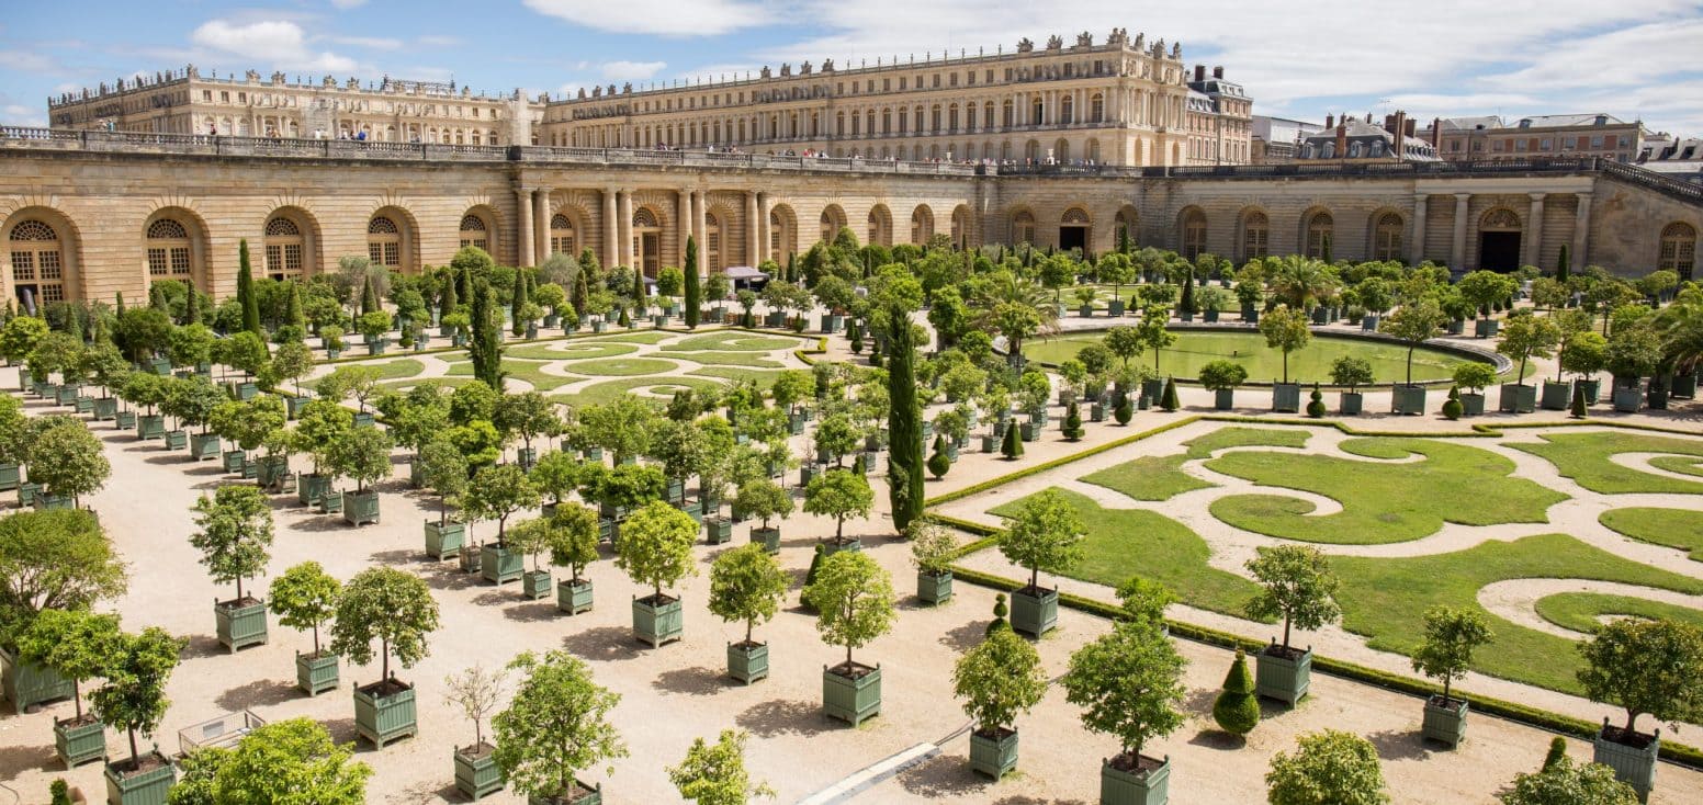
{"type": "MultiPolygon", "coordinates": [[[[1241,609],[1259,587],[1207,565],[1213,550],[1187,526],[1146,509],[1102,509],[1075,492],[1059,494],[1092,524],[1073,579],[1115,587],[1139,575],[1165,584],[1190,606],[1245,618],[1241,609]]],[[[991,512],[1015,514],[1020,505],[1013,500],[991,512]]]]}

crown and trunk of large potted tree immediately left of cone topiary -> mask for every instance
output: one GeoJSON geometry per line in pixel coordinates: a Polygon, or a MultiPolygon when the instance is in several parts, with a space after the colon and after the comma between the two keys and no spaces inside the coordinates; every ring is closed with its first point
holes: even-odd
{"type": "Polygon", "coordinates": [[[1143,771],[1146,742],[1182,727],[1184,662],[1155,625],[1136,621],[1117,623],[1071,654],[1064,699],[1083,708],[1083,727],[1117,737],[1112,768],[1143,771]]]}

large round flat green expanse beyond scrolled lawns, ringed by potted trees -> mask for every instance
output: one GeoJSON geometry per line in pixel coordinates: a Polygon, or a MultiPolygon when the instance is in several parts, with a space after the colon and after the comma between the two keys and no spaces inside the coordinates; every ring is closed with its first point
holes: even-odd
{"type": "MultiPolygon", "coordinates": [[[[1269,383],[1282,380],[1282,352],[1265,345],[1265,337],[1257,332],[1184,332],[1177,330],[1177,342],[1160,351],[1160,373],[1178,378],[1196,378],[1201,366],[1209,361],[1230,359],[1247,366],[1248,380],[1269,383]]],[[[1024,354],[1034,361],[1058,364],[1073,357],[1081,347],[1098,342],[1100,332],[1063,335],[1047,340],[1032,340],[1024,347],[1024,354]]],[[[1330,364],[1342,356],[1359,356],[1373,364],[1373,376],[1378,383],[1393,383],[1407,378],[1407,347],[1381,344],[1361,339],[1340,339],[1315,335],[1304,349],[1289,352],[1289,380],[1294,383],[1325,383],[1330,380],[1330,364]]],[[[1153,366],[1153,354],[1139,357],[1146,366],[1153,366]]],[[[1456,366],[1466,363],[1465,357],[1420,347],[1413,351],[1413,381],[1448,380],[1456,366]]]]}

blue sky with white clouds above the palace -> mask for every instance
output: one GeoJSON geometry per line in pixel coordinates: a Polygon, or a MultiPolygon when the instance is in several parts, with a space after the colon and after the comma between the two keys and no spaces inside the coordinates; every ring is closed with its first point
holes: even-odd
{"type": "Polygon", "coordinates": [[[1114,26],[1224,65],[1257,114],[1323,119],[1609,112],[1703,134],[1703,2],[1253,3],[986,0],[20,0],[0,17],[0,123],[44,124],[46,97],[181,68],[363,82],[383,75],[559,95],[833,58],[841,66],[1006,49],[1114,26]]]}

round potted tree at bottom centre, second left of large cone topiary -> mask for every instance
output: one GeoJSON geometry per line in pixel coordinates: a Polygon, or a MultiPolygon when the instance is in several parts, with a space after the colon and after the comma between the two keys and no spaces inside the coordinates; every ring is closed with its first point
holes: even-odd
{"type": "Polygon", "coordinates": [[[1041,652],[1012,630],[996,630],[964,652],[952,671],[952,693],[976,728],[969,739],[969,768],[1000,779],[1017,768],[1017,717],[1041,703],[1047,677],[1041,652]]]}

